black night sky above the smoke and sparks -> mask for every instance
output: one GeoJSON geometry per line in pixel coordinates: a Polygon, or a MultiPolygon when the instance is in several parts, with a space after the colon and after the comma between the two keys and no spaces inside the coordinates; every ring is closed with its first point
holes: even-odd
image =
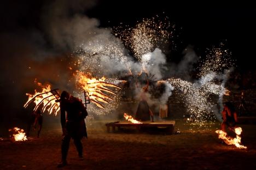
{"type": "MultiPolygon", "coordinates": [[[[44,35],[42,11],[52,1],[7,1],[1,4],[2,33],[22,34],[37,29],[44,35]]],[[[143,18],[167,16],[179,34],[178,51],[193,45],[195,51],[223,42],[232,51],[242,69],[254,69],[256,39],[256,9],[250,5],[231,3],[188,3],[172,1],[91,1],[83,11],[100,20],[100,27],[114,27],[125,23],[134,26],[143,18]],[[164,14],[163,14],[164,13],[164,14]],[[181,29],[182,28],[182,29],[181,29]]],[[[74,11],[70,10],[70,15],[74,11]]],[[[47,38],[44,37],[46,43],[47,38]]],[[[48,44],[51,47],[51,44],[48,44]]],[[[175,58],[176,56],[172,56],[175,58]]],[[[176,59],[178,60],[178,59],[176,59]]]]}

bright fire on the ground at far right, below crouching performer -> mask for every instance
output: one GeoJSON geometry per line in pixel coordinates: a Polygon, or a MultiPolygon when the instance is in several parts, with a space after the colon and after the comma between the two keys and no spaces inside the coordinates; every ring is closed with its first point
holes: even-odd
{"type": "Polygon", "coordinates": [[[240,135],[242,133],[242,128],[236,127],[234,131],[236,133],[236,138],[227,136],[227,133],[222,130],[217,130],[215,132],[219,135],[219,139],[223,139],[223,141],[226,144],[228,144],[228,145],[234,144],[237,148],[246,149],[247,147],[245,147],[244,145],[241,145],[241,136],[240,135]]]}

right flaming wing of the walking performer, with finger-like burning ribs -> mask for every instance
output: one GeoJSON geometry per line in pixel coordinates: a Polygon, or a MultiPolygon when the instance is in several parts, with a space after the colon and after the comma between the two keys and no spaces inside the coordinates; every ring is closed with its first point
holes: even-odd
{"type": "Polygon", "coordinates": [[[110,93],[112,95],[117,95],[113,90],[110,90],[107,87],[114,87],[120,89],[121,87],[106,82],[106,78],[102,77],[100,79],[96,78],[90,78],[90,75],[86,75],[83,72],[77,71],[77,81],[80,87],[82,87],[86,92],[89,93],[90,101],[94,102],[96,106],[104,108],[104,106],[100,102],[104,102],[106,104],[109,103],[109,101],[112,101],[113,98],[111,98],[109,95],[104,94],[104,92],[110,93]]]}

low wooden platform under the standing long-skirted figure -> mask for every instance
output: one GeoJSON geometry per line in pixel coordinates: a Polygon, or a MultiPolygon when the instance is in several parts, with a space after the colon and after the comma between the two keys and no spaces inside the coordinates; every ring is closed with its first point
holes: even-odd
{"type": "Polygon", "coordinates": [[[118,127],[120,130],[121,127],[135,127],[137,132],[141,130],[142,127],[166,127],[166,133],[172,134],[174,131],[175,121],[166,121],[166,122],[142,122],[142,124],[134,124],[130,122],[112,122],[106,123],[107,132],[110,131],[110,127],[112,127],[112,131],[115,132],[115,127],[118,127]]]}

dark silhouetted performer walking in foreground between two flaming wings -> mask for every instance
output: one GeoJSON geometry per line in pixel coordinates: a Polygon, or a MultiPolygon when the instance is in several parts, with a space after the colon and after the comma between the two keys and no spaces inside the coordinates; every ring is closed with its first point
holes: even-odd
{"type": "Polygon", "coordinates": [[[82,100],[75,98],[66,91],[61,93],[61,98],[57,100],[57,102],[59,101],[63,138],[61,143],[61,163],[58,167],[62,167],[67,165],[66,159],[71,138],[74,139],[79,159],[83,160],[83,145],[81,139],[83,137],[87,138],[84,119],[88,116],[88,113],[82,100]]]}

